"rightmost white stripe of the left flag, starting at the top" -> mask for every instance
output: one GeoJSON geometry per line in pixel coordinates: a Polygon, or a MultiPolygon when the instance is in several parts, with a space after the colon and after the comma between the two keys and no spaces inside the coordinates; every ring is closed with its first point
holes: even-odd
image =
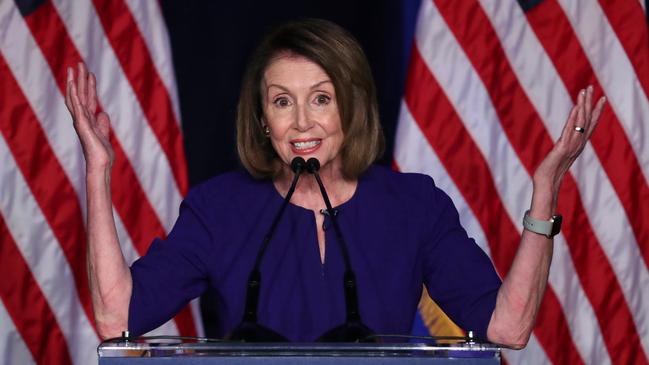
{"type": "Polygon", "coordinates": [[[140,34],[149,46],[149,53],[162,83],[165,85],[176,121],[180,124],[180,106],[176,90],[176,76],[171,56],[171,46],[167,26],[158,1],[125,0],[136,20],[140,34]],[[155,57],[153,57],[155,55],[155,57]]]}

